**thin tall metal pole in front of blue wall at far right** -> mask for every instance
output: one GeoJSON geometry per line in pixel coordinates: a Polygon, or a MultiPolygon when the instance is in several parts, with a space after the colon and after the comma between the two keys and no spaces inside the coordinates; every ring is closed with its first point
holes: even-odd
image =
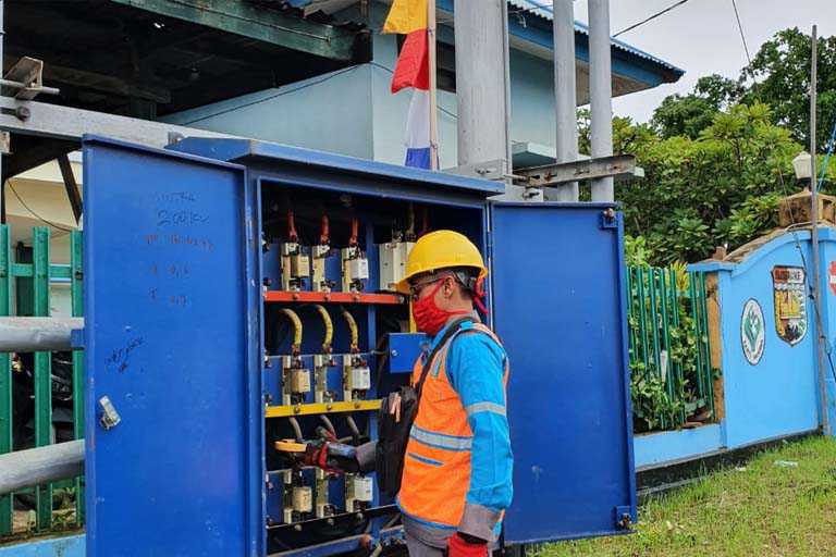
{"type": "Polygon", "coordinates": [[[829,416],[827,411],[827,382],[824,369],[824,323],[822,323],[822,283],[819,272],[819,173],[816,172],[816,133],[815,133],[815,112],[817,101],[817,64],[819,64],[819,33],[813,25],[813,55],[810,69],[810,221],[812,228],[810,231],[811,244],[813,250],[813,281],[811,285],[811,295],[815,311],[815,344],[819,356],[819,397],[822,408],[822,432],[825,435],[831,433],[829,416]]]}

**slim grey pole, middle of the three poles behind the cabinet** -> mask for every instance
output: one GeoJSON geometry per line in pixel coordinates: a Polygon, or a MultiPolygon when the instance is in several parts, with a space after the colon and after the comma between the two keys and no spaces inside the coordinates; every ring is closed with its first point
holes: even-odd
{"type": "MultiPolygon", "coordinates": [[[[578,160],[578,120],[575,79],[574,0],[554,0],[554,96],[557,112],[556,161],[578,160]]],[[[549,188],[550,201],[577,201],[578,183],[549,188]]]]}

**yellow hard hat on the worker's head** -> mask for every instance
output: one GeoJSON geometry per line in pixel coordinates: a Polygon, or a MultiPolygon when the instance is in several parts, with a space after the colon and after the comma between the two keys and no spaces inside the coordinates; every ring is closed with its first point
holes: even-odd
{"type": "Polygon", "coordinates": [[[409,294],[409,280],[440,269],[469,267],[479,271],[477,278],[488,275],[484,260],[472,242],[457,232],[435,231],[421,236],[406,259],[406,274],[397,290],[409,294]]]}

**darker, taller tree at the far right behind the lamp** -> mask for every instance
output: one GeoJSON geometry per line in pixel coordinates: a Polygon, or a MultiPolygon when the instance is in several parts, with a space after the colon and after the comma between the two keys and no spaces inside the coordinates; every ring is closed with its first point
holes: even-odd
{"type": "MultiPolygon", "coordinates": [[[[836,37],[820,37],[817,47],[816,145],[822,151],[836,122],[836,37]]],[[[785,29],[761,46],[741,76],[753,81],[743,100],[767,103],[773,109],[773,122],[785,126],[803,145],[810,143],[811,61],[810,36],[798,28],[785,29]]]]}

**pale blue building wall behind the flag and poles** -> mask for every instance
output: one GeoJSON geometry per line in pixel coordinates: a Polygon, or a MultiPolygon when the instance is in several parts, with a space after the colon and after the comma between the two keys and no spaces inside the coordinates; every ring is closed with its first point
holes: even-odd
{"type": "MultiPolygon", "coordinates": [[[[442,4],[440,7],[443,8],[442,4]]],[[[181,112],[163,120],[243,137],[403,164],[406,114],[411,90],[394,96],[390,92],[392,69],[397,58],[397,39],[394,35],[377,33],[383,26],[388,10],[389,5],[370,3],[368,25],[374,36],[373,61],[369,64],[181,112]]],[[[337,16],[359,21],[355,9],[341,12],[337,16]]],[[[542,29],[520,27],[516,20],[511,25],[515,37],[534,44],[545,40],[542,29]]],[[[551,33],[546,35],[551,41],[551,33]]],[[[439,40],[453,44],[452,28],[442,25],[439,40]]],[[[546,46],[550,44],[543,42],[546,46]]],[[[543,46],[527,45],[527,48],[544,50],[543,46]]],[[[583,59],[586,52],[586,38],[582,37],[579,39],[578,58],[583,59]]],[[[622,72],[616,78],[616,92],[622,88],[622,82],[641,85],[637,81],[640,77],[648,79],[644,87],[661,83],[659,75],[651,75],[643,69],[647,60],[640,60],[640,64],[636,60],[638,65],[631,64],[622,60],[623,52],[616,53],[614,71],[622,72]]],[[[556,124],[552,61],[512,48],[509,64],[512,140],[553,148],[556,124]]],[[[438,102],[441,168],[456,166],[456,96],[439,91],[438,102]]],[[[497,114],[496,117],[503,115],[497,114]]]]}

